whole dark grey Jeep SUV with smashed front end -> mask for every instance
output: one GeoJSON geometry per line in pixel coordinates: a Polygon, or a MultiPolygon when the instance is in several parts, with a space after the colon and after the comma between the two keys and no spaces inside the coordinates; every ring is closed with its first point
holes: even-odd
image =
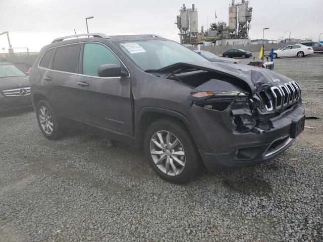
{"type": "MultiPolygon", "coordinates": [[[[157,35],[55,39],[30,74],[38,124],[143,148],[162,178],[270,160],[304,127],[299,85],[269,70],[211,63],[157,35]]],[[[81,37],[84,35],[77,35],[81,37]]]]}

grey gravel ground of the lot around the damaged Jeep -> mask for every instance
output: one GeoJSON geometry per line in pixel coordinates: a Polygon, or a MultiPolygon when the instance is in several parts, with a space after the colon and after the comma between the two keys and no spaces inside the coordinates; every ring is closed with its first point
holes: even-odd
{"type": "MultiPolygon", "coordinates": [[[[323,55],[275,63],[323,117],[323,55]]],[[[32,110],[1,114],[0,241],[323,241],[322,120],[272,162],[178,186],[141,151],[75,131],[49,141],[32,110]]]]}

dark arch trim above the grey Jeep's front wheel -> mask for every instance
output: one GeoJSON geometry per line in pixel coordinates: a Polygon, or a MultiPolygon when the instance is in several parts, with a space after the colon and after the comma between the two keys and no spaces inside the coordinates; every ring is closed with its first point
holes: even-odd
{"type": "Polygon", "coordinates": [[[185,128],[189,131],[191,137],[193,138],[196,147],[198,149],[200,148],[198,135],[194,134],[191,124],[183,114],[177,111],[168,110],[164,108],[156,108],[156,107],[144,107],[138,112],[136,122],[135,122],[135,137],[134,137],[134,144],[136,147],[138,148],[143,147],[143,140],[144,140],[146,128],[155,120],[158,120],[164,117],[174,118],[179,123],[184,125],[185,128]]]}

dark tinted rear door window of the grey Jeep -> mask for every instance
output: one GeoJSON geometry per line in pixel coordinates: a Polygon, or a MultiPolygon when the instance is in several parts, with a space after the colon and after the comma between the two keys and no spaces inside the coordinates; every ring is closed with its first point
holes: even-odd
{"type": "Polygon", "coordinates": [[[58,47],[52,69],[62,72],[78,73],[81,44],[58,47]]]}

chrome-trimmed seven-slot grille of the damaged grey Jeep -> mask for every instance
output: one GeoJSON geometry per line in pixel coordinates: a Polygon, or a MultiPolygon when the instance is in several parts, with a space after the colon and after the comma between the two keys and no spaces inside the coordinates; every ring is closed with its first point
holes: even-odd
{"type": "Polygon", "coordinates": [[[272,100],[264,103],[267,111],[272,111],[273,109],[279,110],[282,107],[286,107],[298,101],[301,96],[301,88],[295,81],[279,85],[278,87],[271,87],[270,92],[272,100]]]}

